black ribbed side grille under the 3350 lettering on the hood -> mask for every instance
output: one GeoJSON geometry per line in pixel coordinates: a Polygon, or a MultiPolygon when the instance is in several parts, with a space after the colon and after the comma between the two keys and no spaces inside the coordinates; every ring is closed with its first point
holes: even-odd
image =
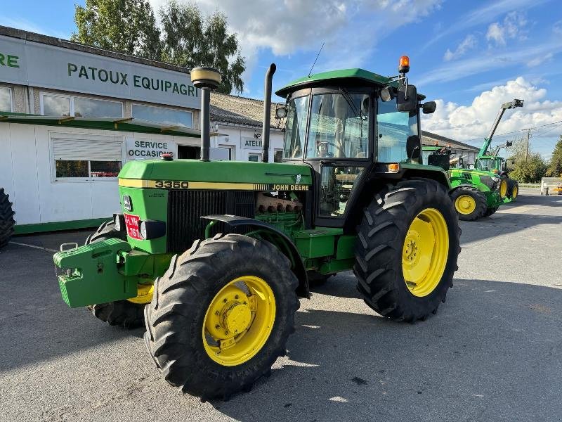
{"type": "MultiPolygon", "coordinates": [[[[204,238],[209,220],[202,215],[230,214],[254,217],[255,196],[248,191],[174,191],[168,193],[168,242],[169,252],[182,252],[193,241],[204,238]]],[[[223,223],[216,224],[211,234],[227,233],[223,223]]],[[[234,231],[233,231],[234,232],[234,231]]]]}

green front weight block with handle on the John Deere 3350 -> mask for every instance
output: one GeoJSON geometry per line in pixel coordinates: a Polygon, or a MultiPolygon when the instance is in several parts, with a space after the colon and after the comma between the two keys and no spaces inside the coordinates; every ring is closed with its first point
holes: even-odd
{"type": "Polygon", "coordinates": [[[138,278],[119,271],[120,254],[129,251],[129,243],[111,238],[55,253],[55,266],[66,270],[58,283],[67,305],[83,307],[136,297],[138,278]]]}

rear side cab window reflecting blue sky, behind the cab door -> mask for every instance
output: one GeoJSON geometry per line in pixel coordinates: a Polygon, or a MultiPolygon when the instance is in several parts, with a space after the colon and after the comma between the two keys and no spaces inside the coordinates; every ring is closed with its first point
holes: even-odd
{"type": "Polygon", "coordinates": [[[377,109],[377,151],[379,162],[400,162],[407,159],[406,140],[418,135],[417,113],[396,110],[396,102],[384,103],[379,98],[377,109]]]}

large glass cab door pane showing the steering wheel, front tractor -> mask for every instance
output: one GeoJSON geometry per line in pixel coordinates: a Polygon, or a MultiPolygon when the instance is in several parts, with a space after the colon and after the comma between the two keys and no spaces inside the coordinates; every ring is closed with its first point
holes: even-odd
{"type": "Polygon", "coordinates": [[[367,158],[368,145],[367,94],[313,96],[307,158],[367,158]]]}

